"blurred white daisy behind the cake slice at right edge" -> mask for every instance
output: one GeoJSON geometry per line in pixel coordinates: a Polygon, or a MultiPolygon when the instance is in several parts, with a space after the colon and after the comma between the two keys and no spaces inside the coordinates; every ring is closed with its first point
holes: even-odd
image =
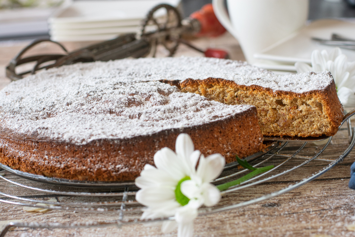
{"type": "Polygon", "coordinates": [[[295,63],[297,73],[330,71],[344,108],[355,108],[355,61],[348,62],[348,57],[339,48],[334,48],[330,54],[326,50],[314,50],[311,63],[312,67],[302,62],[295,63]]]}

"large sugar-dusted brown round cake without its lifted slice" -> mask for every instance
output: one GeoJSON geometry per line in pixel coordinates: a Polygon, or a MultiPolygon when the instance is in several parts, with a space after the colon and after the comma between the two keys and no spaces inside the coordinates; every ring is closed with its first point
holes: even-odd
{"type": "MultiPolygon", "coordinates": [[[[222,63],[235,73],[262,71],[222,63]]],[[[12,82],[0,92],[0,162],[49,177],[133,180],[153,164],[156,151],[175,150],[180,133],[204,155],[222,153],[227,162],[251,155],[262,149],[255,107],[209,101],[159,82],[203,78],[219,66],[215,59],[125,59],[12,82]]]]}

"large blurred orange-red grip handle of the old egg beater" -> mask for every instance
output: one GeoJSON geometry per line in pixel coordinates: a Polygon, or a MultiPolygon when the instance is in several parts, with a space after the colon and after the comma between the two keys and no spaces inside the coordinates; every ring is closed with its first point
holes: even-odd
{"type": "Polygon", "coordinates": [[[204,5],[201,10],[193,12],[190,17],[201,24],[201,31],[196,36],[216,37],[226,31],[214,15],[212,4],[204,5]]]}

